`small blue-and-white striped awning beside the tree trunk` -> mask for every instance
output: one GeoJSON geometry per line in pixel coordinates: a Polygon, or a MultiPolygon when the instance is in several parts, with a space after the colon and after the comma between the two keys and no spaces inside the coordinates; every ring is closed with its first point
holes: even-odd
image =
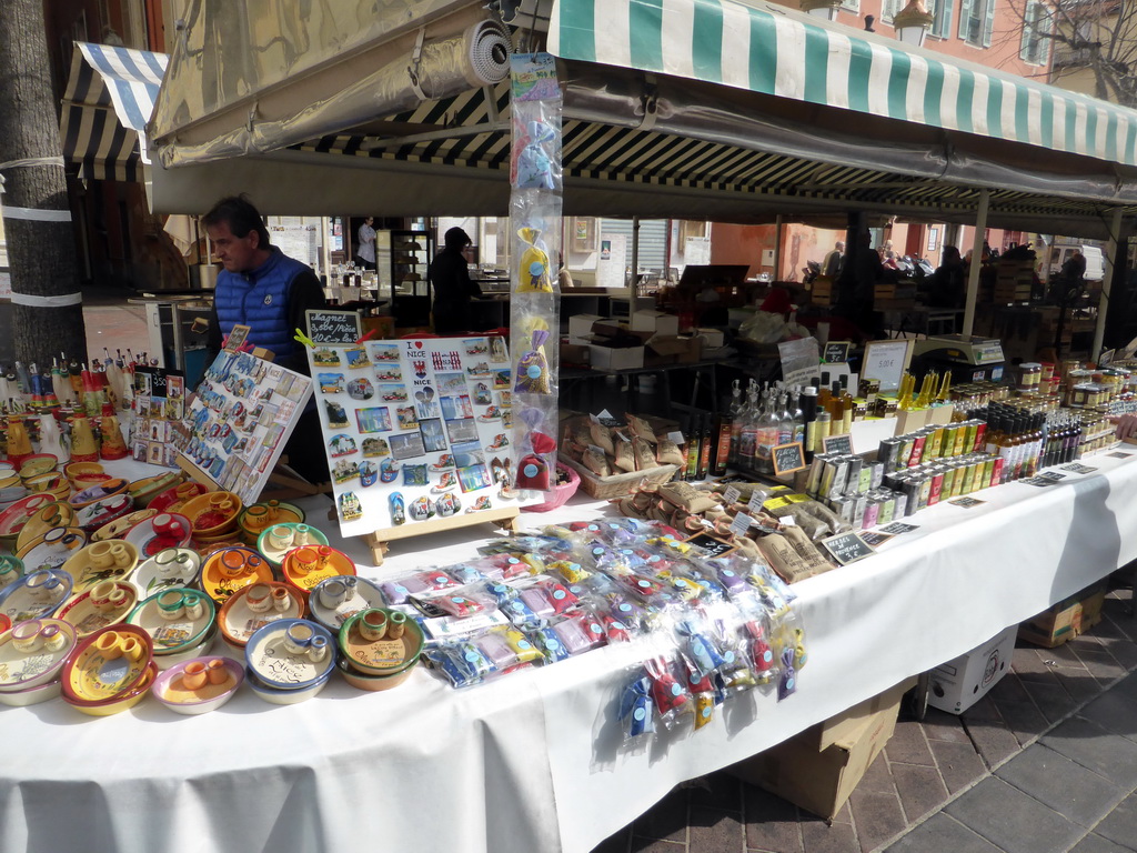
{"type": "Polygon", "coordinates": [[[64,159],[86,179],[142,181],[146,123],[167,57],[146,50],[75,43],[59,123],[64,159]]]}

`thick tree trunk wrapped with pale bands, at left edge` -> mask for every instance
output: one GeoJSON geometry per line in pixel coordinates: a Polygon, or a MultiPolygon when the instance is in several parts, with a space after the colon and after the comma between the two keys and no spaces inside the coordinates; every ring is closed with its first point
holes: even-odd
{"type": "Polygon", "coordinates": [[[16,357],[40,368],[52,355],[86,361],[86,332],[59,117],[51,92],[42,0],[3,0],[0,15],[0,165],[11,270],[16,357]],[[55,163],[45,158],[57,158],[55,163]],[[23,209],[19,209],[23,208],[23,209]],[[40,213],[44,212],[44,213],[40,213]],[[56,212],[55,214],[49,212],[56,212]],[[23,298],[22,298],[23,297],[23,298]],[[28,298],[30,297],[30,298],[28,298]],[[64,305],[44,301],[60,298],[64,305]],[[67,305],[73,297],[76,301],[67,305]],[[31,304],[28,304],[31,303],[31,304]]]}

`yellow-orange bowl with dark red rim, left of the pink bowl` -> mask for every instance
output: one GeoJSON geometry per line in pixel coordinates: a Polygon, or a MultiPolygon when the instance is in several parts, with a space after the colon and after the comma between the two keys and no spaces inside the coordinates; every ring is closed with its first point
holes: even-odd
{"type": "Polygon", "coordinates": [[[150,655],[150,637],[141,628],[101,628],[81,639],[64,662],[64,696],[97,703],[127,694],[146,679],[150,655]]]}

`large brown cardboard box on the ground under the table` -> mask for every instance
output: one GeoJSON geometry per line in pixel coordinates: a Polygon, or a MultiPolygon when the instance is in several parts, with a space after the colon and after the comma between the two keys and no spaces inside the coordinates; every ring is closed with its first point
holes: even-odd
{"type": "Polygon", "coordinates": [[[728,770],[830,820],[893,736],[901,699],[914,685],[906,679],[728,770]]]}

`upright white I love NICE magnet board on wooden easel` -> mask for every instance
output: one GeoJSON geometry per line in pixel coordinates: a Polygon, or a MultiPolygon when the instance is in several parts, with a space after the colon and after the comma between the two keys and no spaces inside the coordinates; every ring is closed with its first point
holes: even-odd
{"type": "MultiPolygon", "coordinates": [[[[318,340],[308,348],[343,536],[375,564],[395,539],[512,527],[512,373],[504,338],[318,340]]],[[[532,500],[530,500],[532,503],[532,500]]]]}

